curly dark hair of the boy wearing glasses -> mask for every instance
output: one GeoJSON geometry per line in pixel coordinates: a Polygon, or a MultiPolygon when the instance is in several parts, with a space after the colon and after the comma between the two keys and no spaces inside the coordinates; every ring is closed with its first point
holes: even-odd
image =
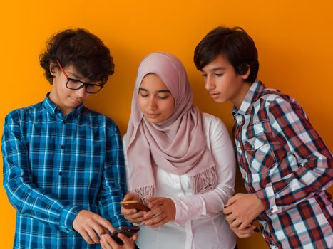
{"type": "Polygon", "coordinates": [[[53,35],[46,43],[46,51],[39,56],[46,79],[52,84],[50,64],[58,68],[56,60],[65,68],[72,65],[83,77],[105,84],[113,74],[114,64],[110,50],[100,38],[83,28],[66,29],[53,35]]]}

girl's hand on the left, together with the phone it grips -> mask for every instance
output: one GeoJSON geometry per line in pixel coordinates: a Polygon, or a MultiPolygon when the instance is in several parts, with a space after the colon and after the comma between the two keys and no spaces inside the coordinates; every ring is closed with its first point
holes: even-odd
{"type": "Polygon", "coordinates": [[[143,204],[137,194],[126,194],[123,201],[121,201],[121,213],[131,223],[142,223],[145,221],[144,214],[148,210],[149,208],[143,204]]]}

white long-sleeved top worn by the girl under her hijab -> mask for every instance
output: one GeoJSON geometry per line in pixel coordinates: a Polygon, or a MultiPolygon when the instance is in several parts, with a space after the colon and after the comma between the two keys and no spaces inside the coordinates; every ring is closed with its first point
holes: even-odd
{"type": "MultiPolygon", "coordinates": [[[[172,198],[175,221],[158,228],[140,226],[136,243],[140,249],[229,249],[236,238],[230,230],[222,209],[234,194],[235,152],[227,128],[222,121],[203,113],[208,148],[217,164],[217,186],[204,194],[193,195],[187,174],[171,174],[153,167],[155,196],[172,198]]],[[[125,136],[123,147],[126,148],[125,136]]],[[[126,149],[126,173],[130,176],[126,149]]]]}

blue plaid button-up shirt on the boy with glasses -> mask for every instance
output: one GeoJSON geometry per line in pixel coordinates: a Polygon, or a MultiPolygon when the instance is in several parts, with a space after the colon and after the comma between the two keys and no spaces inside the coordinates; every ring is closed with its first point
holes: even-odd
{"type": "Polygon", "coordinates": [[[86,209],[128,225],[123,146],[108,117],[81,105],[64,116],[49,100],[6,116],[4,188],[16,208],[14,248],[100,248],[73,231],[86,209]]]}

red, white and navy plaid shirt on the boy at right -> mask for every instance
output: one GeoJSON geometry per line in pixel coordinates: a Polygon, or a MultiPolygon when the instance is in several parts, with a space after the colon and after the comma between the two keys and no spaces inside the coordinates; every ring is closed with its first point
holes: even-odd
{"type": "Polygon", "coordinates": [[[249,193],[265,206],[258,216],[271,248],[333,248],[333,157],[292,97],[252,84],[233,129],[249,193]]]}

